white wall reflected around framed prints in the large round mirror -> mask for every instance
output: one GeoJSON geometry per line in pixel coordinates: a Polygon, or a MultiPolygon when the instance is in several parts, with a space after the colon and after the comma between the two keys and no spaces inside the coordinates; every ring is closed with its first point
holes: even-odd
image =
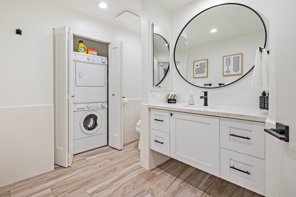
{"type": "MultiPolygon", "coordinates": [[[[220,42],[211,43],[188,49],[187,58],[187,80],[192,84],[209,84],[218,86],[219,83],[231,83],[242,75],[223,76],[222,57],[226,55],[242,53],[242,74],[246,74],[253,66],[256,50],[259,43],[264,43],[262,39],[264,33],[251,33],[240,37],[235,37],[220,42]],[[225,48],[225,46],[231,46],[225,48]],[[208,77],[193,78],[193,61],[208,59],[208,77]]],[[[183,60],[183,62],[185,62],[183,60]]]]}

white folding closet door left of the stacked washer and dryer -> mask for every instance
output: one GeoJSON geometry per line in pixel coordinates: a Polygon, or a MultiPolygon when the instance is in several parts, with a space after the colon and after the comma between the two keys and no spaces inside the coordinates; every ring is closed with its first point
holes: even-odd
{"type": "Polygon", "coordinates": [[[73,92],[72,89],[68,89],[71,87],[69,68],[71,69],[73,49],[73,35],[70,28],[62,27],[53,31],[53,49],[54,163],[68,167],[73,160],[73,101],[72,95],[68,95],[73,92]]]}

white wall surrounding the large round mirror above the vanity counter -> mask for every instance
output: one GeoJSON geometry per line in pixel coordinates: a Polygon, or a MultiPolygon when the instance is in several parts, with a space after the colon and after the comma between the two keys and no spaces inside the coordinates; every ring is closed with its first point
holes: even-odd
{"type": "MultiPolygon", "coordinates": [[[[181,33],[183,27],[186,23],[194,17],[199,12],[203,11],[206,8],[209,8],[214,5],[222,4],[230,2],[227,0],[195,0],[192,3],[189,3],[172,12],[172,20],[171,20],[171,45],[170,45],[170,52],[171,52],[171,61],[173,63],[173,49],[175,47],[176,40],[181,33]]],[[[269,29],[269,0],[234,0],[231,2],[242,3],[248,5],[255,9],[263,18],[267,32],[269,29]]],[[[267,35],[268,36],[268,35],[267,35]]],[[[268,37],[267,37],[268,38],[268,37]]],[[[259,47],[259,46],[258,46],[259,47]]],[[[268,42],[267,47],[268,49],[268,42]]],[[[256,50],[254,51],[256,53],[256,50]]],[[[255,61],[255,60],[254,60],[255,61]]],[[[173,67],[173,66],[172,66],[173,67]]],[[[231,106],[241,106],[241,107],[259,107],[259,96],[261,91],[257,90],[250,90],[252,74],[249,73],[243,79],[239,80],[238,82],[228,85],[226,87],[218,88],[218,89],[202,89],[192,86],[185,82],[179,73],[177,72],[176,68],[173,67],[171,69],[171,76],[172,76],[172,91],[177,94],[178,101],[177,102],[188,102],[189,92],[188,90],[193,90],[193,95],[195,98],[195,103],[202,103],[202,99],[198,99],[199,96],[202,95],[201,91],[208,91],[209,95],[209,104],[217,104],[217,105],[231,105],[231,106]],[[223,98],[221,98],[223,95],[223,98]]]]}

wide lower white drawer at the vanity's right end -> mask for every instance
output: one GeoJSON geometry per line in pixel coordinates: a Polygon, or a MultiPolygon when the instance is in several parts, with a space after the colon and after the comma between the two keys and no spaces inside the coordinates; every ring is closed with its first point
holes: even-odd
{"type": "Polygon", "coordinates": [[[265,196],[265,160],[220,148],[220,177],[265,196]]]}

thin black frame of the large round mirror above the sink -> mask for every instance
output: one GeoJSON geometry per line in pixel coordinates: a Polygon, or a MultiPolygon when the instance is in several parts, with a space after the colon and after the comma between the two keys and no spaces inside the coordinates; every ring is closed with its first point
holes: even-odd
{"type": "Polygon", "coordinates": [[[219,5],[215,5],[215,6],[209,7],[209,8],[207,8],[207,9],[201,11],[200,13],[198,13],[197,15],[195,15],[195,16],[194,16],[194,17],[193,17],[193,18],[192,18],[192,19],[191,19],[191,20],[185,25],[185,27],[182,29],[181,33],[179,34],[179,36],[178,36],[178,38],[177,38],[177,41],[176,41],[176,44],[175,44],[175,47],[174,47],[174,62],[175,62],[176,69],[177,69],[178,73],[180,74],[180,76],[181,76],[181,77],[182,77],[187,83],[191,84],[192,86],[199,87],[199,88],[207,88],[207,89],[222,88],[222,87],[228,86],[228,85],[230,85],[230,84],[233,84],[234,82],[237,82],[238,80],[240,80],[241,78],[243,78],[244,76],[246,76],[246,75],[247,75],[247,74],[248,74],[248,73],[254,68],[254,66],[253,66],[253,67],[252,67],[247,73],[245,73],[242,77],[238,78],[237,80],[235,80],[235,81],[233,81],[233,82],[231,82],[231,83],[229,83],[229,84],[226,84],[226,85],[223,85],[223,86],[218,86],[218,87],[201,87],[201,86],[194,85],[194,84],[190,83],[189,81],[187,81],[187,80],[182,76],[182,74],[179,72],[179,70],[178,70],[178,67],[177,67],[177,64],[176,64],[176,58],[175,58],[176,46],[177,46],[178,40],[179,40],[179,38],[180,38],[182,32],[183,32],[184,29],[187,27],[187,25],[188,25],[193,19],[195,19],[198,15],[200,15],[201,13],[207,11],[208,9],[211,9],[211,8],[213,8],[213,7],[217,7],[217,6],[221,6],[221,5],[229,5],[229,4],[232,4],[232,5],[241,5],[241,6],[247,7],[247,8],[251,9],[253,12],[255,12],[255,13],[258,15],[259,19],[261,20],[261,22],[262,22],[262,24],[263,24],[264,32],[265,32],[265,41],[264,41],[264,46],[263,46],[263,47],[265,48],[265,46],[266,46],[267,32],[266,32],[266,26],[265,26],[265,23],[264,23],[262,17],[259,15],[259,13],[258,13],[257,11],[255,11],[253,8],[251,8],[251,7],[247,6],[247,5],[244,5],[244,4],[240,4],[240,3],[223,3],[223,4],[219,4],[219,5]]]}

